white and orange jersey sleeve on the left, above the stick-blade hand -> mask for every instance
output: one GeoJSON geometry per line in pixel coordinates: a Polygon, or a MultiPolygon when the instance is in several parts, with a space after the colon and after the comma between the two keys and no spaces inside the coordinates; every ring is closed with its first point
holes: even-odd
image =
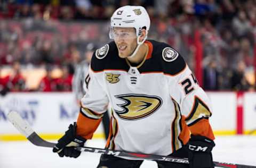
{"type": "Polygon", "coordinates": [[[98,128],[103,114],[107,111],[108,97],[99,80],[101,75],[89,68],[85,78],[85,95],[81,99],[81,108],[77,119],[77,135],[91,139],[98,128]]]}

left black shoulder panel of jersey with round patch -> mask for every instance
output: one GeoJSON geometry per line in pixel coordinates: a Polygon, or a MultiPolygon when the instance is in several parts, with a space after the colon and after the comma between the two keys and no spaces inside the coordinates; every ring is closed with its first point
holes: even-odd
{"type": "Polygon", "coordinates": [[[103,70],[129,70],[125,59],[118,56],[118,50],[114,41],[97,49],[92,56],[91,69],[93,71],[103,70]]]}

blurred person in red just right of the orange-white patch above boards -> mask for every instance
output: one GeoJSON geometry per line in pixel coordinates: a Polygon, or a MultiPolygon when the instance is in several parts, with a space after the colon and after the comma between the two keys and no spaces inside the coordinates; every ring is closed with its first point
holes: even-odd
{"type": "Polygon", "coordinates": [[[54,91],[55,90],[55,83],[53,82],[54,79],[52,78],[52,69],[50,67],[46,67],[46,75],[45,77],[40,81],[38,91],[54,91]]]}

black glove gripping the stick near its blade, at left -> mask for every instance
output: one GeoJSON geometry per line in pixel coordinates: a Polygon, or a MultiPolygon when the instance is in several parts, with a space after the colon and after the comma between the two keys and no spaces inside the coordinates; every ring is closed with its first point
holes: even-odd
{"type": "Polygon", "coordinates": [[[53,147],[53,152],[58,153],[60,157],[77,158],[81,152],[76,150],[77,146],[84,146],[86,139],[76,136],[76,122],[70,124],[65,135],[58,140],[58,144],[53,147]]]}

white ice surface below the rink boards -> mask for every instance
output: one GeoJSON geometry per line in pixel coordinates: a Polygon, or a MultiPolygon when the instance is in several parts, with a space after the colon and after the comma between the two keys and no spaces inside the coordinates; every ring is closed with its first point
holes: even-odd
{"type": "MultiPolygon", "coordinates": [[[[214,161],[256,166],[256,136],[217,137],[215,143],[214,161]]],[[[91,140],[87,146],[103,148],[105,141],[91,140]]],[[[100,157],[100,154],[82,153],[76,159],[60,158],[51,150],[34,146],[29,141],[0,141],[0,168],[94,168],[100,157]]],[[[157,165],[153,161],[141,165],[141,168],[154,167],[157,165]]]]}

